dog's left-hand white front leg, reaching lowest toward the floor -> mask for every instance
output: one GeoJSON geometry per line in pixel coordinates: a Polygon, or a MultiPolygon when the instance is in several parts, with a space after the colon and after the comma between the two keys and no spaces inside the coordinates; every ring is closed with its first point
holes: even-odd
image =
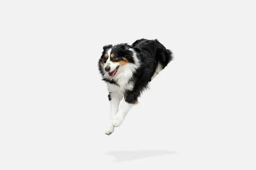
{"type": "Polygon", "coordinates": [[[123,94],[120,92],[109,92],[108,99],[110,102],[110,124],[108,125],[107,130],[105,130],[105,134],[110,135],[113,133],[114,128],[112,125],[113,119],[118,112],[119,103],[123,97],[123,94]]]}

